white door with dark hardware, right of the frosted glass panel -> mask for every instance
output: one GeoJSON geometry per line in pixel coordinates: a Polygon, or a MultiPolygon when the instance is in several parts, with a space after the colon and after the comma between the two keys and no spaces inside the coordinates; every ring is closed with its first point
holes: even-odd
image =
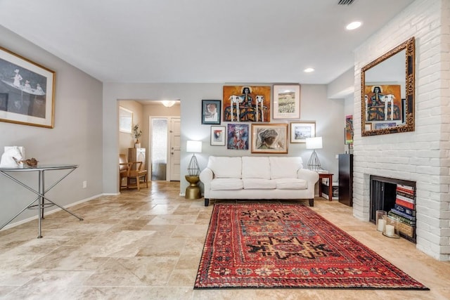
{"type": "Polygon", "coordinates": [[[180,118],[170,118],[170,130],[169,130],[169,181],[180,181],[180,118]]]}

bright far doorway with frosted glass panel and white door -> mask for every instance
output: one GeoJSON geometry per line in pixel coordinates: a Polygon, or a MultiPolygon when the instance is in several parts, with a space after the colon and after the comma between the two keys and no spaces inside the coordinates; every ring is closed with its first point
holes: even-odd
{"type": "Polygon", "coordinates": [[[152,181],[180,180],[180,118],[150,117],[152,181]]]}

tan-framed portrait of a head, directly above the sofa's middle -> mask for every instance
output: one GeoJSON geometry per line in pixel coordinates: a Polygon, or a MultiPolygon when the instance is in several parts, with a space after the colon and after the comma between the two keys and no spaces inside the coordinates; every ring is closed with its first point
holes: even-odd
{"type": "Polygon", "coordinates": [[[288,124],[252,124],[252,153],[288,153],[288,124]]]}

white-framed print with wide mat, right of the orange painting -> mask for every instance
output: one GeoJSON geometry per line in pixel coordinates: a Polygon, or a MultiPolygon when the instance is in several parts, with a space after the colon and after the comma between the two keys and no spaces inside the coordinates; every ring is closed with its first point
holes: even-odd
{"type": "Polygon", "coordinates": [[[274,119],[300,119],[300,84],[274,84],[274,119]]]}

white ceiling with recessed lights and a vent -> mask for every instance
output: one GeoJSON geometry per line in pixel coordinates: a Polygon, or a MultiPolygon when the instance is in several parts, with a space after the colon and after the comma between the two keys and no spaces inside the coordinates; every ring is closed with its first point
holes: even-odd
{"type": "Polygon", "coordinates": [[[328,84],[413,0],[338,2],[0,0],[0,25],[103,82],[328,84]]]}

